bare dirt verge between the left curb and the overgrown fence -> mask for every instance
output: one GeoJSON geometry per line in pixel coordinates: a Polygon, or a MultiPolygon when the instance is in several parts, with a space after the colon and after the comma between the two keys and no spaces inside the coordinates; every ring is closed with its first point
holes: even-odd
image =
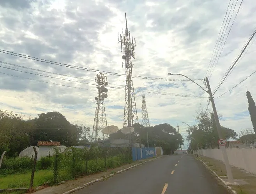
{"type": "Polygon", "coordinates": [[[57,186],[47,187],[47,188],[41,189],[39,191],[34,192],[34,194],[62,194],[62,193],[67,192],[71,189],[79,187],[83,184],[91,182],[91,181],[93,181],[97,178],[104,178],[104,177],[106,177],[106,176],[108,176],[112,173],[116,173],[117,171],[123,170],[125,168],[129,168],[130,166],[133,166],[133,165],[136,165],[136,164],[139,164],[139,163],[143,163],[143,162],[148,161],[150,159],[153,159],[153,158],[148,158],[148,159],[135,161],[133,163],[120,166],[118,168],[108,169],[104,172],[96,173],[96,174],[93,174],[93,175],[88,175],[88,176],[85,176],[85,177],[76,178],[75,180],[69,180],[69,181],[65,182],[64,184],[60,184],[60,185],[57,185],[57,186]]]}

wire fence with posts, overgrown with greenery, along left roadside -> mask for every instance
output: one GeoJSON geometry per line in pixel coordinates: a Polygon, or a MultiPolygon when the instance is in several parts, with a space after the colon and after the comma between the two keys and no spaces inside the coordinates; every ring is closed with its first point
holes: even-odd
{"type": "Polygon", "coordinates": [[[130,147],[69,147],[64,152],[55,147],[54,150],[54,156],[42,157],[38,161],[35,147],[32,158],[3,157],[0,166],[0,189],[28,190],[40,185],[56,185],[132,162],[130,147]]]}

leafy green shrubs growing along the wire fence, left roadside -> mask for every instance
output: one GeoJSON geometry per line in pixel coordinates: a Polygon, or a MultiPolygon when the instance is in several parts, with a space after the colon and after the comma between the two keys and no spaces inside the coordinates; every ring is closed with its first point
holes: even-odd
{"type": "MultiPolygon", "coordinates": [[[[56,152],[55,156],[42,157],[37,161],[36,170],[49,169],[53,172],[47,184],[56,184],[81,175],[88,175],[116,168],[132,162],[131,148],[96,147],[78,149],[71,147],[65,152],[56,152]],[[57,158],[56,158],[57,156],[57,158]],[[55,163],[56,161],[56,163],[55,163]]],[[[4,158],[0,175],[21,173],[32,170],[30,158],[4,158]],[[2,168],[3,167],[3,168],[2,168]]]]}

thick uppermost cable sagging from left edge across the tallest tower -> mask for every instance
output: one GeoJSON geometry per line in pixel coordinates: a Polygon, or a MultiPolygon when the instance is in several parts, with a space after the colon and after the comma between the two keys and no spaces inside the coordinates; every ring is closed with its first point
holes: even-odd
{"type": "MultiPolygon", "coordinates": [[[[74,65],[49,61],[49,60],[45,60],[45,59],[40,59],[40,58],[37,58],[37,57],[31,57],[31,56],[28,56],[28,55],[18,54],[16,52],[11,52],[11,51],[7,51],[7,50],[3,50],[3,49],[0,49],[0,52],[2,52],[4,54],[13,55],[13,56],[16,56],[16,57],[23,57],[23,58],[26,58],[26,59],[31,59],[31,60],[35,60],[35,61],[39,61],[39,62],[45,62],[45,63],[54,64],[54,65],[63,66],[63,67],[68,67],[68,68],[80,69],[80,70],[84,70],[84,71],[91,71],[91,72],[97,72],[97,73],[105,73],[105,74],[110,74],[110,75],[115,75],[115,76],[125,76],[125,74],[121,74],[121,73],[113,73],[113,72],[101,71],[101,70],[97,70],[97,69],[83,68],[83,67],[79,67],[79,66],[74,66],[74,65]]],[[[138,79],[159,80],[159,81],[190,81],[190,80],[175,80],[175,79],[167,79],[167,78],[153,78],[153,77],[146,77],[146,76],[133,76],[133,77],[138,78],[138,79]]],[[[194,80],[194,81],[199,81],[199,80],[202,80],[202,79],[197,79],[197,80],[194,80]]]]}

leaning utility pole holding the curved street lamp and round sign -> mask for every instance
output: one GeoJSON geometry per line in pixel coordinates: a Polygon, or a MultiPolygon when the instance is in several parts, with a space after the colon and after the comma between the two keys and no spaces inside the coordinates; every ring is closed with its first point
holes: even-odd
{"type": "MultiPolygon", "coordinates": [[[[222,137],[223,135],[221,133],[221,125],[219,123],[219,117],[218,117],[217,110],[216,110],[216,107],[215,107],[214,99],[213,99],[213,96],[212,96],[212,90],[210,88],[210,83],[209,83],[208,78],[205,78],[205,81],[207,83],[208,94],[210,95],[210,100],[212,102],[212,109],[214,111],[214,118],[215,118],[216,125],[217,125],[217,132],[218,132],[218,135],[219,135],[219,139],[223,139],[223,137],[222,137]]],[[[231,171],[231,167],[230,167],[230,162],[228,160],[228,154],[227,154],[227,151],[226,151],[226,147],[221,146],[221,150],[222,150],[224,163],[225,163],[226,171],[227,171],[227,175],[228,175],[228,182],[233,183],[234,179],[233,179],[233,175],[232,175],[232,171],[231,171]]]]}

